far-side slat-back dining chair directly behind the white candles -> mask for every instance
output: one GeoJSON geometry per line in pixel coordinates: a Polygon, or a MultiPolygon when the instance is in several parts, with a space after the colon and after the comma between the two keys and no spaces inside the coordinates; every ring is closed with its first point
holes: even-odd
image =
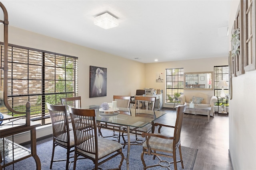
{"type": "MultiPolygon", "coordinates": [[[[118,108],[129,108],[130,107],[130,98],[131,98],[131,96],[117,96],[117,95],[113,96],[113,100],[116,101],[116,105],[117,105],[118,108]]],[[[115,130],[113,130],[113,135],[112,136],[103,136],[102,132],[101,132],[101,128],[100,127],[98,128],[99,135],[101,137],[118,138],[118,143],[120,143],[120,136],[121,136],[120,129],[122,129],[123,126],[112,124],[112,123],[105,123],[105,122],[100,122],[100,124],[102,126],[105,126],[105,127],[112,127],[113,129],[118,129],[118,131],[119,131],[118,135],[115,133],[115,130]]]]}

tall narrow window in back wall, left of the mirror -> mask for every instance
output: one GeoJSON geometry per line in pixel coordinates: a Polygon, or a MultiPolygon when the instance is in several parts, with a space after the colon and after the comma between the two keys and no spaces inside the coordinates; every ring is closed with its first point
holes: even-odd
{"type": "Polygon", "coordinates": [[[166,103],[174,103],[175,98],[184,93],[184,69],[166,69],[166,103]]]}

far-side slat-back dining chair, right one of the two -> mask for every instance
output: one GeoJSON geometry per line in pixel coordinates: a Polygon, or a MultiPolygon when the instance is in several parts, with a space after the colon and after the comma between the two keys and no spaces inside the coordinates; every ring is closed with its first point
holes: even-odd
{"type": "MultiPolygon", "coordinates": [[[[147,112],[147,110],[148,111],[154,110],[155,102],[156,102],[156,97],[135,96],[135,108],[137,110],[139,109],[140,111],[144,111],[145,113],[147,112]]],[[[148,114],[148,116],[150,116],[150,114],[148,114]]],[[[126,130],[125,127],[124,127],[124,130],[126,130]]],[[[136,141],[133,141],[130,143],[137,143],[141,145],[144,142],[144,140],[138,139],[138,135],[141,135],[144,132],[149,133],[151,131],[152,131],[151,123],[148,123],[148,125],[145,125],[144,127],[139,127],[134,129],[130,127],[130,133],[135,134],[135,137],[136,137],[136,141]]],[[[124,139],[124,133],[122,133],[122,138],[124,140],[124,147],[125,147],[127,143],[124,139]]]]}

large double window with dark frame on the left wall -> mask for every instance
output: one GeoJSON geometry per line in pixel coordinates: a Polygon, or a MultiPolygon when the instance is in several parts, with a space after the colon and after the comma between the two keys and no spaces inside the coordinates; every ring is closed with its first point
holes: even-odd
{"type": "MultiPolygon", "coordinates": [[[[1,66],[3,64],[1,43],[1,66]]],[[[3,85],[3,71],[1,75],[3,85]]],[[[8,104],[14,110],[26,111],[25,104],[30,102],[31,120],[46,125],[51,123],[46,102],[60,104],[60,98],[77,94],[78,57],[8,46],[8,104]]],[[[0,107],[0,112],[16,116],[4,106],[0,107]]]]}

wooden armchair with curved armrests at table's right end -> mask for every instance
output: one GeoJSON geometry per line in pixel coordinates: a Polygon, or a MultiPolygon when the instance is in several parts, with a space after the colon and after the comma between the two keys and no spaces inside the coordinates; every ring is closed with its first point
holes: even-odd
{"type": "Polygon", "coordinates": [[[186,110],[186,103],[184,105],[178,106],[177,118],[175,126],[166,125],[161,123],[155,123],[155,126],[159,126],[158,133],[142,133],[142,137],[147,137],[146,141],[143,143],[141,160],[144,166],[144,170],[147,168],[152,168],[155,166],[162,166],[168,168],[170,170],[170,164],[174,163],[174,170],[177,170],[177,162],[181,162],[182,168],[184,168],[181,146],[180,146],[180,131],[182,127],[182,121],[184,117],[184,112],[186,110]],[[170,135],[162,135],[161,128],[174,128],[174,134],[170,135]],[[180,160],[177,161],[176,158],[176,150],[179,149],[180,152],[180,160]],[[153,159],[157,157],[160,161],[158,164],[147,166],[144,160],[144,154],[154,155],[153,159]],[[160,156],[173,158],[173,162],[162,160],[160,156]]]}

